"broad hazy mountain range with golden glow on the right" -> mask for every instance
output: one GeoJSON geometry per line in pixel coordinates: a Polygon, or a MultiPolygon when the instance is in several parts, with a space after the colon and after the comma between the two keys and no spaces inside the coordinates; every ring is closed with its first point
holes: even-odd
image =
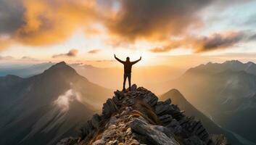
{"type": "Polygon", "coordinates": [[[207,63],[160,87],[177,88],[194,107],[222,128],[256,143],[255,68],[252,62],[207,63]]]}

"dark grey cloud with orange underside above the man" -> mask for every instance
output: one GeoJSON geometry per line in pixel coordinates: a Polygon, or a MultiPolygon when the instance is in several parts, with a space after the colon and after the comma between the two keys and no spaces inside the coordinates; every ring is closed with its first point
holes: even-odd
{"type": "Polygon", "coordinates": [[[123,0],[107,27],[126,41],[137,38],[162,39],[181,35],[202,25],[198,12],[212,0],[123,0]]]}

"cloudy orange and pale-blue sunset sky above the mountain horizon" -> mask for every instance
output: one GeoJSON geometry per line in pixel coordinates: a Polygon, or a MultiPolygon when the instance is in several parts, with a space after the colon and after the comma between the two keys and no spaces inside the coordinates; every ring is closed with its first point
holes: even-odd
{"type": "Polygon", "coordinates": [[[0,0],[0,63],[256,62],[255,0],[0,0]]]}

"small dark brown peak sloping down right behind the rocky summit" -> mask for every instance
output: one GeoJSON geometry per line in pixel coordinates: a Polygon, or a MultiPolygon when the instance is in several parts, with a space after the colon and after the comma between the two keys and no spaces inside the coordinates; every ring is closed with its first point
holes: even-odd
{"type": "Polygon", "coordinates": [[[220,126],[216,125],[209,117],[205,116],[202,112],[196,109],[192,104],[185,99],[185,97],[177,89],[171,89],[165,94],[160,96],[161,100],[171,99],[173,104],[177,104],[181,110],[184,110],[184,115],[194,116],[202,121],[202,125],[209,131],[209,133],[214,134],[225,134],[228,138],[228,141],[233,145],[241,145],[238,138],[232,133],[229,133],[226,130],[223,130],[220,126]]]}

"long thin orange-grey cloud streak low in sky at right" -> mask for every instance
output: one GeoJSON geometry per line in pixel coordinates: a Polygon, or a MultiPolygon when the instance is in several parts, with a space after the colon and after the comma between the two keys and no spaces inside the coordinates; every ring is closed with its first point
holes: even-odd
{"type": "Polygon", "coordinates": [[[168,52],[180,47],[194,49],[195,52],[228,49],[241,42],[254,41],[256,34],[247,31],[214,33],[210,36],[186,36],[181,40],[168,41],[164,46],[150,49],[154,53],[168,52]]]}

